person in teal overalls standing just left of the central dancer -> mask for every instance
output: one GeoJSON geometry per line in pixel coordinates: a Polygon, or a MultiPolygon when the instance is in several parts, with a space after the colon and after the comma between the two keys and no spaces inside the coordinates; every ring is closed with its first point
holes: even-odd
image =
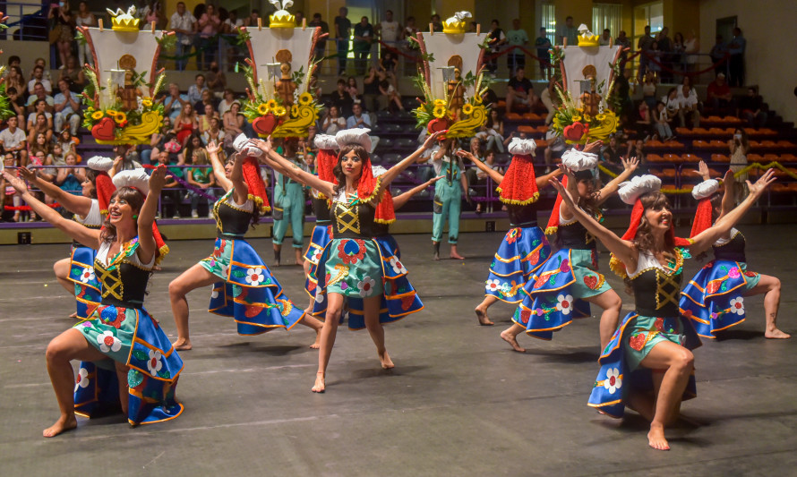
{"type": "MultiPolygon", "coordinates": [[[[284,157],[291,163],[291,168],[301,169],[302,164],[296,157],[296,138],[285,138],[284,157]]],[[[287,233],[287,225],[291,226],[293,242],[291,243],[296,254],[296,265],[304,263],[302,249],[304,248],[304,186],[291,179],[289,175],[276,173],[274,183],[274,210],[271,214],[274,219],[274,236],[271,242],[274,246],[274,263],[279,267],[282,251],[282,241],[287,233]]]]}

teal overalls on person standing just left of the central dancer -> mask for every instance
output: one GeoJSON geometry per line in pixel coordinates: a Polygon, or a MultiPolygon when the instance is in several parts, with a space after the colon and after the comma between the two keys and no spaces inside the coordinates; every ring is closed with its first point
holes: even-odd
{"type": "MultiPolygon", "coordinates": [[[[294,167],[301,168],[296,161],[290,160],[294,167]]],[[[274,237],[272,241],[281,245],[290,224],[293,231],[293,247],[304,247],[304,187],[284,175],[274,173],[277,183],[274,186],[274,237]]]]}

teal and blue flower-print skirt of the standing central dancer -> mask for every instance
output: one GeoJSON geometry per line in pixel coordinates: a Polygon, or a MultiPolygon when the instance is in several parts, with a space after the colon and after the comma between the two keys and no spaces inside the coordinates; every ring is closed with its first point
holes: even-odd
{"type": "Polygon", "coordinates": [[[424,308],[407,279],[407,268],[379,239],[333,239],[321,254],[313,278],[318,284],[313,314],[323,319],[327,294],[342,294],[351,329],[365,328],[364,298],[381,295],[381,323],[398,321],[424,308]]]}

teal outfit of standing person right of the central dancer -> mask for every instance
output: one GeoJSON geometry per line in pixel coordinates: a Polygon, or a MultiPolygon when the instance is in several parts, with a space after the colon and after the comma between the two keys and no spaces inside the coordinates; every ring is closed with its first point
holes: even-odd
{"type": "Polygon", "coordinates": [[[462,186],[459,183],[462,165],[459,159],[452,160],[448,157],[442,158],[440,162],[440,170],[436,171],[436,176],[444,178],[434,183],[432,241],[439,243],[442,240],[442,229],[448,219],[449,243],[456,244],[462,203],[462,186]]]}

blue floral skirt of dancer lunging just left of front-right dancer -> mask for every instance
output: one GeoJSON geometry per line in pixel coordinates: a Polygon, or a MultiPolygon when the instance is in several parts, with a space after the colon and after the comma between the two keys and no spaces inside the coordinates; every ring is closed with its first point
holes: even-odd
{"type": "Polygon", "coordinates": [[[528,280],[523,288],[526,296],[512,321],[526,328],[529,336],[552,339],[554,331],[574,318],[590,316],[589,303],[582,299],[612,289],[596,270],[596,251],[557,251],[528,280]]]}

